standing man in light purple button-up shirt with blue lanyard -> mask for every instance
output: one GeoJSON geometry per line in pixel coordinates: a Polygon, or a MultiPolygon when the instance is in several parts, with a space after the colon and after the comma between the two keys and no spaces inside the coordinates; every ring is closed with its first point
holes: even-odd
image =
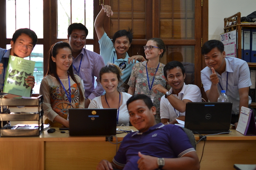
{"type": "Polygon", "coordinates": [[[98,81],[99,71],[105,66],[103,58],[84,48],[87,28],[81,23],[73,23],[68,27],[67,40],[72,48],[73,71],[84,82],[84,108],[88,108],[94,97],[101,96],[104,89],[98,81]],[[94,88],[94,77],[97,77],[97,86],[94,88]]]}

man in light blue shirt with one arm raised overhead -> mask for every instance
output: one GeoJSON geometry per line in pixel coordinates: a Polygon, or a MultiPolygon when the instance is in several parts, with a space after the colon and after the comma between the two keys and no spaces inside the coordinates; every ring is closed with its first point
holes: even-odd
{"type": "MultiPolygon", "coordinates": [[[[111,6],[102,5],[102,10],[99,12],[94,22],[94,28],[99,39],[100,54],[103,57],[105,64],[111,62],[119,66],[122,71],[122,81],[128,82],[135,61],[144,61],[145,58],[141,55],[128,56],[127,51],[131,46],[133,38],[131,30],[117,31],[113,35],[113,42],[111,41],[103,27],[106,16],[110,17],[110,15],[113,15],[111,6]]],[[[128,87],[125,87],[125,89],[119,88],[119,90],[127,92],[128,87]]]]}

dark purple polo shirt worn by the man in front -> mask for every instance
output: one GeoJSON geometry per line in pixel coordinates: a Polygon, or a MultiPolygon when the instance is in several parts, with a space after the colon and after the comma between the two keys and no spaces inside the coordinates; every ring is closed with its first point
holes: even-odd
{"type": "Polygon", "coordinates": [[[159,123],[144,133],[126,135],[113,162],[124,167],[123,170],[137,170],[138,152],[154,157],[179,158],[192,151],[195,149],[181,127],[159,123]]]}

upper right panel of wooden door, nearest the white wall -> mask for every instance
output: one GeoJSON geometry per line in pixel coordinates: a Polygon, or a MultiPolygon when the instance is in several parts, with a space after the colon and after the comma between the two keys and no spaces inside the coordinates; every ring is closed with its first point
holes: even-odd
{"type": "Polygon", "coordinates": [[[195,39],[195,0],[160,1],[160,38],[195,39]]]}

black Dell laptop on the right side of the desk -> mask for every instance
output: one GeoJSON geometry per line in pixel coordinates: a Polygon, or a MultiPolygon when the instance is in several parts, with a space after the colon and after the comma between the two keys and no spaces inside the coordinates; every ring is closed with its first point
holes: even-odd
{"type": "Polygon", "coordinates": [[[231,102],[188,102],[185,127],[201,134],[229,132],[231,112],[231,102]]]}

